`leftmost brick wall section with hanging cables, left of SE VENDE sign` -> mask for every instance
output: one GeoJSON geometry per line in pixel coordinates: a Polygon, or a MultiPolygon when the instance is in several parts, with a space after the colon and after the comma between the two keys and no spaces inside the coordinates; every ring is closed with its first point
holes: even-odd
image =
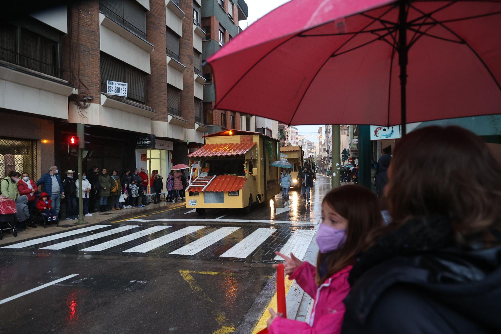
{"type": "Polygon", "coordinates": [[[62,48],[63,79],[75,85],[79,92],[93,96],[92,103],[100,103],[101,56],[97,1],[83,1],[68,6],[68,34],[62,39],[62,48]]]}

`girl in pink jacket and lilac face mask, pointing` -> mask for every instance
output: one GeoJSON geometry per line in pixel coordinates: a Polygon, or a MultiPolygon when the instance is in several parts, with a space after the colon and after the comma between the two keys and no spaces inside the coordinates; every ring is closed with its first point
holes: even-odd
{"type": "Polygon", "coordinates": [[[286,261],[285,273],[289,279],[296,279],[314,299],[310,319],[308,322],[285,319],[270,308],[270,334],[340,333],[352,264],[364,250],[369,232],[381,224],[377,197],[369,190],[348,185],[330,191],[322,202],[322,223],[316,236],[320,249],[317,267],[292,253],[288,257],[276,252],[286,261]]]}

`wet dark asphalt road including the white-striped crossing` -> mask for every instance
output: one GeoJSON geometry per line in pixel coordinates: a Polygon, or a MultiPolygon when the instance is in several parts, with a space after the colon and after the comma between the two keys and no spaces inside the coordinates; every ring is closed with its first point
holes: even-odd
{"type": "Polygon", "coordinates": [[[256,299],[270,289],[274,252],[313,242],[329,181],[319,176],[310,205],[291,191],[286,208],[281,195],[249,215],[179,208],[0,248],[0,333],[233,332],[268,304],[256,299]]]}

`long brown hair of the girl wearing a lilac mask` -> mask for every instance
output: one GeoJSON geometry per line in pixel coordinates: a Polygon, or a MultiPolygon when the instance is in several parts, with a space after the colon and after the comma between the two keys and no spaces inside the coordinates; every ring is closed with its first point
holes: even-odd
{"type": "Polygon", "coordinates": [[[326,254],[318,253],[315,281],[319,286],[347,265],[353,264],[357,254],[366,248],[368,233],[382,224],[377,196],[363,187],[347,185],[331,190],[325,196],[324,203],[346,218],[348,227],[345,232],[346,243],[342,248],[326,254]],[[327,274],[320,277],[318,269],[327,257],[327,274]]]}

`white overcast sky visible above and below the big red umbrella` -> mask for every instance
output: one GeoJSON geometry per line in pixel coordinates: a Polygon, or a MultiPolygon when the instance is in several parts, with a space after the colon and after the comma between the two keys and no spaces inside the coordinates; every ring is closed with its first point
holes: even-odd
{"type": "MultiPolygon", "coordinates": [[[[289,0],[245,0],[248,7],[248,19],[245,21],[239,21],[238,25],[242,29],[245,29],[262,16],[265,16],[288,1],[289,0]]],[[[297,128],[299,135],[307,135],[308,140],[318,142],[317,137],[319,126],[322,126],[322,129],[325,131],[325,125],[299,125],[297,128]],[[315,135],[315,137],[310,135],[315,135]]]]}

